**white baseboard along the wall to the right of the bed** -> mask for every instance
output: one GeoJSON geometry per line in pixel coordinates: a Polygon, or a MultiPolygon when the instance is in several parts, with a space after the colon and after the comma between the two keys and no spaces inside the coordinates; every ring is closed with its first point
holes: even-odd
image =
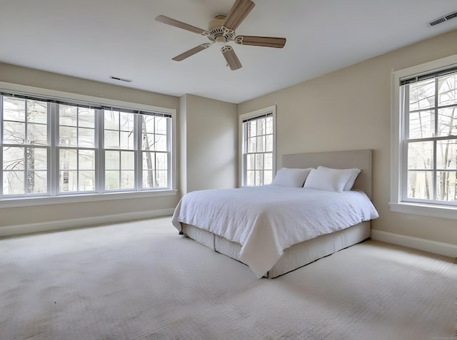
{"type": "Polygon", "coordinates": [[[397,244],[408,248],[419,249],[433,254],[457,257],[457,245],[451,243],[431,241],[405,235],[394,234],[393,232],[383,232],[381,230],[371,230],[371,238],[387,243],[397,244]]]}

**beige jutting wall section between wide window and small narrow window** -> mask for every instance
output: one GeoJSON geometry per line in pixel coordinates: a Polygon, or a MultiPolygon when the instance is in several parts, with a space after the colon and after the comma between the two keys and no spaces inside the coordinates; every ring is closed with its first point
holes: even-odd
{"type": "Polygon", "coordinates": [[[237,105],[186,94],[179,118],[182,193],[236,187],[237,105]]]}

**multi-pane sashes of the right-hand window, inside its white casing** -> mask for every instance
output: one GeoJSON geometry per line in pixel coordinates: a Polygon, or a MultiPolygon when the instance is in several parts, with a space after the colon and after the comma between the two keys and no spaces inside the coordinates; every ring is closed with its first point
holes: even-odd
{"type": "Polygon", "coordinates": [[[401,81],[403,200],[457,204],[457,70],[401,81]]]}

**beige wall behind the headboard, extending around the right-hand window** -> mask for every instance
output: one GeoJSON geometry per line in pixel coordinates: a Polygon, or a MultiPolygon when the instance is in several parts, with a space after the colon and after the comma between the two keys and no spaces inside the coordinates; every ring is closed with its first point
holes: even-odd
{"type": "Polygon", "coordinates": [[[373,149],[376,230],[457,244],[456,220],[391,212],[391,72],[457,53],[457,31],[386,53],[238,105],[238,114],[277,105],[281,155],[373,149]]]}

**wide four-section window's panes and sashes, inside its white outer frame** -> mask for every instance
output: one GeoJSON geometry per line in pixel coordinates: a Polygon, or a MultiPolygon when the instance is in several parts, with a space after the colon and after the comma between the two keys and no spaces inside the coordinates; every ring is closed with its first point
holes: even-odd
{"type": "Polygon", "coordinates": [[[0,96],[0,198],[171,188],[171,115],[0,96]]]}

